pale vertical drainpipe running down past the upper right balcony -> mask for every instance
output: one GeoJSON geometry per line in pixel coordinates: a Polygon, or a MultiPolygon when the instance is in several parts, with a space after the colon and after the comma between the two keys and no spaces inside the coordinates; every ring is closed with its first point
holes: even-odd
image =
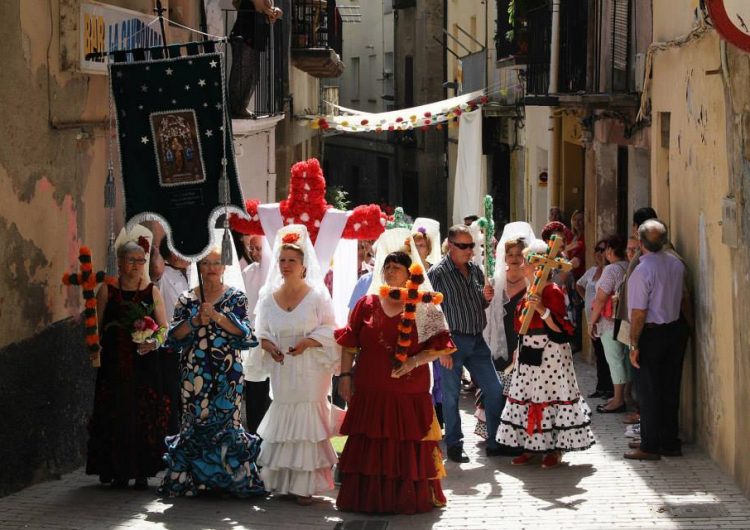
{"type": "MultiPolygon", "coordinates": [[[[560,76],[560,0],[552,0],[552,37],[549,58],[549,95],[557,94],[560,76]]],[[[562,119],[557,117],[557,107],[550,107],[549,151],[547,152],[547,211],[560,206],[560,144],[562,141],[562,119]]],[[[546,222],[547,213],[544,214],[546,222]]]]}

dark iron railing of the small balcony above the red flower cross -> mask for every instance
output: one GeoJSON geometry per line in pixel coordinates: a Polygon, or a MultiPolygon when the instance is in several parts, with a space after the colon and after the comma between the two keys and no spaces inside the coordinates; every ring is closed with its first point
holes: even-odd
{"type": "Polygon", "coordinates": [[[292,4],[292,49],[332,49],[341,55],[341,15],[336,0],[295,0],[292,4]]]}

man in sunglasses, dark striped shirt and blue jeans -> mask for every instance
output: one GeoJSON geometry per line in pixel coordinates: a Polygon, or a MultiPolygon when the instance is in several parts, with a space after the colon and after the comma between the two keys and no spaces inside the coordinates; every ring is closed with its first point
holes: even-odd
{"type": "Polygon", "coordinates": [[[485,285],[484,274],[472,262],[474,240],[465,225],[448,230],[448,253],[427,273],[436,291],[443,293],[443,312],[458,350],[440,358],[443,383],[445,445],[453,462],[469,461],[463,450],[463,433],[458,410],[461,372],[465,367],[485,396],[487,417],[487,456],[505,454],[497,443],[502,386],[492,363],[490,349],[482,337],[487,325],[485,309],[494,295],[485,285]]]}

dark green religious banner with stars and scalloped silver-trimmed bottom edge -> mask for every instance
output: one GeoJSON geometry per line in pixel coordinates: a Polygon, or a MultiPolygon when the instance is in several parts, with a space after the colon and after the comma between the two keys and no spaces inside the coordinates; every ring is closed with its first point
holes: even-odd
{"type": "Polygon", "coordinates": [[[111,65],[120,167],[128,226],[158,220],[173,249],[204,254],[226,210],[245,215],[235,168],[231,120],[225,116],[222,55],[197,44],[118,52],[111,65]],[[146,59],[146,55],[150,58],[146,59]],[[175,56],[176,55],[176,56],[175,56]],[[226,160],[226,180],[222,179],[226,160]]]}

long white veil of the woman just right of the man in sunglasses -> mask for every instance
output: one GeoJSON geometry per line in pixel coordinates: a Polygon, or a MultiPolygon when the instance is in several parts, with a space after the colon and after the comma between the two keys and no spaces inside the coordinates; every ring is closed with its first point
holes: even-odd
{"type": "Polygon", "coordinates": [[[492,285],[495,297],[487,308],[487,327],[484,328],[484,339],[490,347],[493,359],[508,359],[508,343],[505,339],[505,304],[508,303],[505,270],[505,243],[513,239],[523,238],[527,246],[537,241],[531,225],[522,221],[508,223],[503,228],[503,235],[497,243],[495,251],[495,276],[492,285]]]}

